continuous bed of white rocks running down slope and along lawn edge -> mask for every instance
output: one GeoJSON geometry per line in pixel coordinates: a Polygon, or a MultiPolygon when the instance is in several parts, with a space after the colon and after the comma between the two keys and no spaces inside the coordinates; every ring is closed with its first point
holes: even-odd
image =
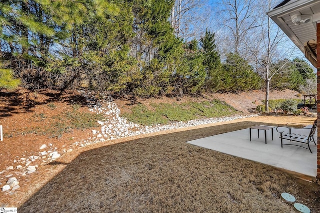
{"type": "Polygon", "coordinates": [[[175,122],[167,125],[154,125],[154,126],[141,126],[138,124],[134,124],[132,122],[127,121],[125,118],[121,118],[120,110],[116,106],[114,102],[112,102],[112,98],[107,94],[100,94],[104,101],[95,99],[94,95],[91,93],[87,93],[84,90],[79,90],[87,98],[87,105],[90,107],[90,111],[95,112],[96,114],[102,114],[105,116],[105,120],[97,121],[99,125],[101,125],[101,134],[98,134],[99,131],[92,130],[92,134],[97,136],[89,139],[88,141],[80,141],[75,142],[74,145],[76,146],[87,146],[94,143],[99,143],[101,141],[106,140],[113,140],[121,137],[126,136],[135,136],[140,134],[146,133],[153,133],[163,130],[170,130],[170,129],[177,129],[177,128],[184,128],[184,127],[191,127],[201,124],[208,124],[208,123],[216,123],[216,122],[223,122],[223,121],[231,121],[240,118],[247,118],[247,117],[254,117],[258,116],[258,114],[252,115],[236,115],[230,117],[222,117],[222,118],[208,118],[208,119],[198,119],[198,120],[191,120],[187,122],[175,122]],[[138,129],[138,130],[137,130],[138,129]],[[103,140],[104,139],[104,140],[103,140]]]}

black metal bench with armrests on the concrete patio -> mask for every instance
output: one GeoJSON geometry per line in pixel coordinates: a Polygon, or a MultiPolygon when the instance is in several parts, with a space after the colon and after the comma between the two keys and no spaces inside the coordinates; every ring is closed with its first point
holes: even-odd
{"type": "Polygon", "coordinates": [[[294,123],[287,123],[285,125],[285,127],[283,127],[283,126],[276,127],[276,131],[278,133],[280,133],[281,148],[282,148],[282,145],[293,145],[293,146],[298,146],[298,147],[302,147],[302,148],[305,148],[305,149],[309,149],[310,153],[312,153],[311,149],[310,149],[310,146],[309,146],[309,143],[312,140],[313,143],[315,144],[313,135],[314,135],[315,129],[316,129],[316,122],[317,122],[317,120],[315,120],[313,122],[312,126],[310,125],[310,126],[306,126],[306,127],[303,127],[303,128],[294,128],[294,127],[288,127],[287,126],[288,124],[294,124],[294,123]],[[283,130],[283,131],[281,131],[281,130],[283,130]],[[290,142],[293,141],[293,142],[299,142],[299,143],[302,143],[302,144],[307,144],[308,148],[306,148],[304,146],[300,146],[300,145],[294,144],[294,143],[284,144],[282,142],[283,140],[288,140],[290,142]]]}

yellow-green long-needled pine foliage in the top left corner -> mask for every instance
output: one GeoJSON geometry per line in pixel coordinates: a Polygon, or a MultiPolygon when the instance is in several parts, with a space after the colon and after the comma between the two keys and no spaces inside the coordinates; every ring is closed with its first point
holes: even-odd
{"type": "Polygon", "coordinates": [[[58,44],[88,16],[113,7],[105,0],[4,0],[0,2],[1,51],[46,67],[59,58],[58,44]]]}

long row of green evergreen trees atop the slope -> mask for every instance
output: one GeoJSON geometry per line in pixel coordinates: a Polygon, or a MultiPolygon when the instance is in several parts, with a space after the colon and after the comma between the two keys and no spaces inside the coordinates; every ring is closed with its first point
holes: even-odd
{"type": "MultiPolygon", "coordinates": [[[[0,87],[84,87],[140,97],[264,88],[261,64],[239,48],[221,55],[213,31],[181,38],[171,17],[175,3],[2,0],[0,87]]],[[[272,66],[282,71],[270,80],[271,88],[307,90],[314,81],[302,59],[277,60],[272,66]]]]}

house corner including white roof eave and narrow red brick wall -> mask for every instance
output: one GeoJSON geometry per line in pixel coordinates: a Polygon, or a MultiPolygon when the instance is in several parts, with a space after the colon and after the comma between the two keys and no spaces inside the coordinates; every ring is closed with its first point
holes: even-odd
{"type": "MultiPolygon", "coordinates": [[[[320,1],[283,0],[268,16],[317,69],[317,129],[320,127],[320,1]],[[319,54],[317,54],[319,53],[319,54]]],[[[317,182],[320,182],[320,133],[317,131],[317,182]]]]}

